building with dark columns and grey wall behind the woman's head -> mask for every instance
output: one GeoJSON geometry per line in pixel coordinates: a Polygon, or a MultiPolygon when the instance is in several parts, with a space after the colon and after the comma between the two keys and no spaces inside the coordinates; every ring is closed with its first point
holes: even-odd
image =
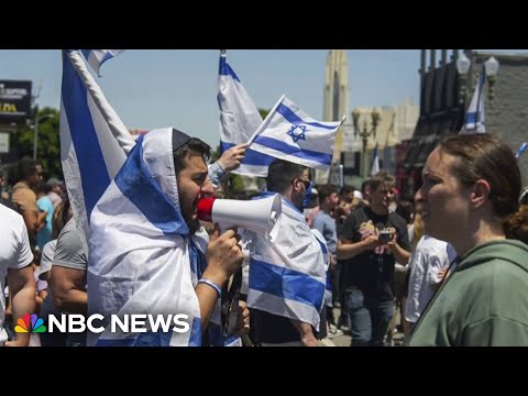
{"type": "MultiPolygon", "coordinates": [[[[493,86],[493,105],[490,102],[490,84],[486,87],[486,132],[501,136],[513,151],[528,141],[528,55],[465,51],[471,68],[468,78],[463,79],[457,70],[459,50],[450,52],[448,59],[448,50],[441,50],[440,62],[437,63],[436,50],[421,50],[420,116],[413,138],[405,142],[405,160],[402,160],[404,156],[400,155],[400,161],[396,164],[398,187],[408,199],[411,199],[421,186],[421,170],[438,142],[460,132],[479,73],[491,56],[499,62],[501,68],[493,86]],[[464,81],[465,86],[462,87],[464,81]],[[464,89],[468,92],[465,96],[464,89]]],[[[526,179],[528,157],[521,157],[519,165],[526,179]]]]}

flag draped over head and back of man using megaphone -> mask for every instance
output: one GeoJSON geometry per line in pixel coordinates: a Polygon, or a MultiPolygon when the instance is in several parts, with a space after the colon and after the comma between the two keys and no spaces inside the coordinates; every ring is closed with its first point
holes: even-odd
{"type": "Polygon", "coordinates": [[[89,238],[88,310],[105,317],[89,345],[200,345],[194,285],[205,267],[207,237],[189,239],[173,161],[173,129],[138,139],[123,167],[94,208],[89,238]],[[148,332],[111,332],[111,315],[184,314],[189,331],[151,323],[148,332]]]}

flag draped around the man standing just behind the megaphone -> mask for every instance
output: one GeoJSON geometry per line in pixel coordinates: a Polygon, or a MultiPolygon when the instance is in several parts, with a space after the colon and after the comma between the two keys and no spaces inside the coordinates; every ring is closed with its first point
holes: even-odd
{"type": "Polygon", "coordinates": [[[273,244],[252,231],[242,235],[250,252],[248,306],[319,330],[326,285],[322,248],[302,213],[284,198],[282,204],[280,232],[273,244]]]}

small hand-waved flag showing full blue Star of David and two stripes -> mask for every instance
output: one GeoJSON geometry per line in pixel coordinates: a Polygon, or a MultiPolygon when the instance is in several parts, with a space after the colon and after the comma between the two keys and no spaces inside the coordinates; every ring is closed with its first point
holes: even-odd
{"type": "Polygon", "coordinates": [[[255,131],[250,146],[260,153],[326,170],[332,163],[336,132],[344,119],[316,121],[283,95],[255,131]]]}

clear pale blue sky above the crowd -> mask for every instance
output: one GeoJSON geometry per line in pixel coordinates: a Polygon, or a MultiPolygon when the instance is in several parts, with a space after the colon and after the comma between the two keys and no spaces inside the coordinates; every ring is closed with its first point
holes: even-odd
{"type": "MultiPolygon", "coordinates": [[[[482,50],[527,53],[528,50],[482,50]]],[[[228,61],[260,108],[286,94],[316,119],[322,118],[328,50],[228,50],[228,61]]],[[[348,50],[349,111],[356,106],[419,101],[419,50],[348,50]]],[[[437,56],[438,58],[438,56],[437,56]]],[[[129,50],[96,78],[129,129],[175,127],[217,146],[218,50],[129,50]]],[[[0,50],[0,79],[42,84],[38,106],[59,107],[58,50],[0,50]]]]}

